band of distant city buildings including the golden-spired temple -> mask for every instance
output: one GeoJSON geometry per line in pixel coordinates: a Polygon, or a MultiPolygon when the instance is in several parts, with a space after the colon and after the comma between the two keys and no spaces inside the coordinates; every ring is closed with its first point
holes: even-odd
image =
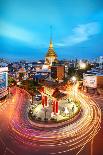
{"type": "MultiPolygon", "coordinates": [[[[1,62],[4,63],[3,59],[1,62]]],[[[5,64],[3,64],[5,65],[5,64]]],[[[26,79],[35,81],[58,81],[69,80],[71,76],[86,74],[103,74],[103,56],[90,60],[58,60],[53,48],[52,39],[44,60],[27,62],[25,60],[8,64],[8,74],[19,82],[26,79]],[[80,71],[81,72],[80,72],[80,71]],[[79,72],[78,72],[79,71],[79,72]],[[79,74],[78,74],[79,73],[79,74]]],[[[81,76],[82,77],[82,76],[81,76]]]]}

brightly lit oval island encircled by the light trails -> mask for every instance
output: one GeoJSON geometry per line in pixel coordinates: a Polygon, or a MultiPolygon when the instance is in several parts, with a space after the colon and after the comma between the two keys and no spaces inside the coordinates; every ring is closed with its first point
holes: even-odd
{"type": "Polygon", "coordinates": [[[42,103],[30,105],[28,108],[28,117],[33,122],[46,124],[61,123],[74,118],[81,110],[79,102],[73,102],[69,98],[64,98],[58,102],[58,111],[54,112],[52,100],[49,100],[47,106],[42,103]]]}

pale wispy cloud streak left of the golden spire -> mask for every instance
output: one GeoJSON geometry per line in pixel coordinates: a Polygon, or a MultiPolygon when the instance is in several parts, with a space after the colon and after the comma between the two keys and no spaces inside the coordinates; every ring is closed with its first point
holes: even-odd
{"type": "Polygon", "coordinates": [[[0,21],[0,25],[1,25],[0,36],[24,42],[24,44],[32,47],[40,43],[40,37],[38,36],[38,34],[36,34],[36,32],[34,32],[33,34],[21,27],[11,25],[4,21],[0,21]]]}

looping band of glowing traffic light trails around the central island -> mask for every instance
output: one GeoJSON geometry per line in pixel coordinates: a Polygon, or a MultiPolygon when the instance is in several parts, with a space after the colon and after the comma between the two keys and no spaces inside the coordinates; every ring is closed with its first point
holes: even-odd
{"type": "MultiPolygon", "coordinates": [[[[73,97],[73,94],[74,88],[69,90],[69,95],[73,97]]],[[[16,107],[15,116],[10,121],[9,130],[11,137],[26,147],[34,150],[38,148],[38,151],[46,150],[49,151],[48,154],[62,154],[83,148],[100,129],[100,108],[81,92],[75,96],[81,105],[80,115],[76,115],[78,117],[74,117],[74,121],[72,119],[69,122],[53,123],[55,124],[53,128],[49,128],[52,124],[47,122],[30,121],[27,110],[30,104],[22,95],[27,96],[27,93],[24,91],[19,97],[19,104],[16,107]],[[59,126],[60,124],[62,126],[59,126]]]]}

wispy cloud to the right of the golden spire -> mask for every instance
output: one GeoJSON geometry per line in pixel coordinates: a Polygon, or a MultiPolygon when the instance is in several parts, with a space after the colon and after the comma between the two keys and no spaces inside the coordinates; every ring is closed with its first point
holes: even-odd
{"type": "Polygon", "coordinates": [[[60,43],[56,43],[56,46],[73,46],[81,42],[91,39],[92,36],[100,32],[100,25],[97,22],[78,25],[72,30],[72,34],[65,38],[60,43]]]}

